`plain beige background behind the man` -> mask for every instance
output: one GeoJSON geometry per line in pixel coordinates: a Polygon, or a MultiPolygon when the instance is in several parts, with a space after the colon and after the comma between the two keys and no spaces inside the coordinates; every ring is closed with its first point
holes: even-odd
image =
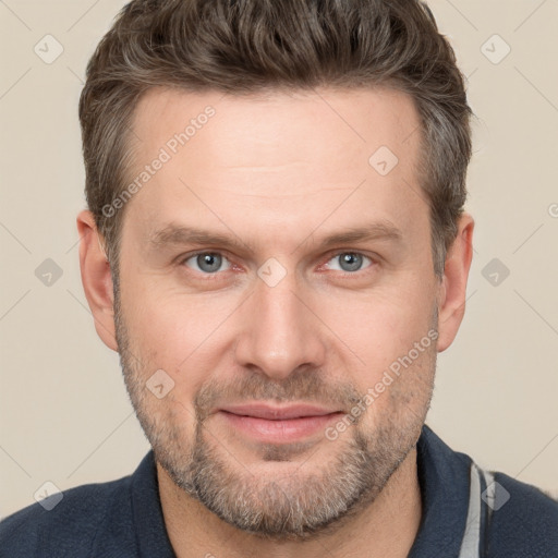
{"type": "MultiPolygon", "coordinates": [[[[94,329],[75,228],[84,207],[77,99],[123,3],[0,2],[1,517],[32,504],[46,481],[63,490],[117,478],[148,450],[118,355],[94,329]],[[47,34],[64,49],[50,64],[34,51],[47,34]],[[63,270],[50,287],[35,276],[46,258],[63,270]]],[[[558,497],[558,0],[429,4],[470,76],[478,120],[468,310],[439,357],[427,422],[481,465],[558,497]],[[495,34],[511,48],[497,64],[505,45],[495,34]],[[510,271],[498,286],[483,276],[493,258],[510,271]]]]}

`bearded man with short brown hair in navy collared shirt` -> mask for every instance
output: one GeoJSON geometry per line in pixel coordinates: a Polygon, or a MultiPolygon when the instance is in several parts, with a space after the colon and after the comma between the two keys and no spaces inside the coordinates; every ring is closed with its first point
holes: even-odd
{"type": "Polygon", "coordinates": [[[2,556],[550,557],[558,504],[424,425],[471,110],[410,0],[137,0],[80,104],[85,294],[153,447],[2,556]]]}

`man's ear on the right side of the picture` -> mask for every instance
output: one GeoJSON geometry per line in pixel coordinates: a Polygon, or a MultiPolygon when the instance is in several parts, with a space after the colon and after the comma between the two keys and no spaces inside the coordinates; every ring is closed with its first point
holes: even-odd
{"type": "Polygon", "coordinates": [[[458,221],[458,234],[446,255],[444,278],[438,295],[438,352],[445,351],[456,338],[465,313],[466,280],[473,257],[473,229],[469,214],[458,221]]]}

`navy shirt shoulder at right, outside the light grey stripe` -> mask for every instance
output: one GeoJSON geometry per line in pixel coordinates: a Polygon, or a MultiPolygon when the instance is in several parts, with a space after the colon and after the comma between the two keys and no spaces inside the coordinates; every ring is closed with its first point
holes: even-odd
{"type": "Polygon", "coordinates": [[[504,473],[492,474],[488,556],[558,558],[558,501],[504,473]]]}

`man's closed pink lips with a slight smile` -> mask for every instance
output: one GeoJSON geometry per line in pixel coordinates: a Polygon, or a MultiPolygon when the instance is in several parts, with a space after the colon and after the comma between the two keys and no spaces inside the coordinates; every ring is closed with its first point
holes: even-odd
{"type": "Polygon", "coordinates": [[[323,434],[330,422],[338,421],[344,413],[308,404],[246,404],[219,409],[217,414],[248,438],[280,444],[323,434]]]}

